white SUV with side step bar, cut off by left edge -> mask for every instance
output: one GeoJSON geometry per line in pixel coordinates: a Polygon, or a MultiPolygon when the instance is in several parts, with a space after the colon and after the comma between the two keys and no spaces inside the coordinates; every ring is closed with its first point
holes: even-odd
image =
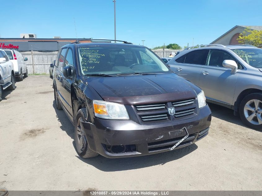
{"type": "Polygon", "coordinates": [[[0,101],[3,90],[15,90],[15,70],[13,63],[8,58],[4,50],[0,49],[0,101]]]}

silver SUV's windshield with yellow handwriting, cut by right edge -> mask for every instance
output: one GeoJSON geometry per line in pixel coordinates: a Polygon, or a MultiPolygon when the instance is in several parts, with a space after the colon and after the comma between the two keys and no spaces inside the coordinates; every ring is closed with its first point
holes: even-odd
{"type": "Polygon", "coordinates": [[[262,68],[262,49],[239,48],[239,49],[231,49],[231,50],[252,67],[262,68]]]}

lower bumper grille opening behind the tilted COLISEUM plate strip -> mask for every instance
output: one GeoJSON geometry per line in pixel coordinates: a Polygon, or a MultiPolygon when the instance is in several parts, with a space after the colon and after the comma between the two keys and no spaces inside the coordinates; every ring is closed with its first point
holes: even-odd
{"type": "MultiPolygon", "coordinates": [[[[194,141],[197,135],[198,133],[190,134],[183,142],[181,142],[175,148],[178,148],[180,146],[182,147],[182,146],[189,145],[191,142],[194,141]]],[[[168,150],[169,148],[174,146],[177,142],[179,142],[183,137],[184,136],[173,138],[173,139],[168,139],[168,140],[162,140],[159,142],[150,142],[147,144],[148,152],[157,152],[157,151],[162,151],[162,150],[168,150]]]]}

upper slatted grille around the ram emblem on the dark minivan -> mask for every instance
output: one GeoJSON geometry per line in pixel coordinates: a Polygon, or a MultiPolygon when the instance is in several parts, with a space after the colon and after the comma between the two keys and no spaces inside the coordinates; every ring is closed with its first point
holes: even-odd
{"type": "Polygon", "coordinates": [[[152,103],[144,105],[135,105],[136,112],[140,118],[141,123],[150,124],[153,121],[170,121],[170,120],[184,120],[197,115],[197,99],[190,98],[184,100],[177,100],[165,103],[152,103]],[[175,108],[175,115],[169,115],[168,108],[175,108]]]}

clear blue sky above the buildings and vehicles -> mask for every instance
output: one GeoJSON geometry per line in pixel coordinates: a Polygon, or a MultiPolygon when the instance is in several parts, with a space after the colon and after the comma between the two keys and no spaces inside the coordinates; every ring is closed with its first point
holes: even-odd
{"type": "MultiPolygon", "coordinates": [[[[116,37],[149,48],[208,44],[235,25],[262,25],[261,7],[260,0],[117,0],[116,37]]],[[[113,0],[1,1],[1,12],[12,13],[2,15],[2,38],[75,38],[73,18],[78,38],[114,38],[113,0]]]]}

